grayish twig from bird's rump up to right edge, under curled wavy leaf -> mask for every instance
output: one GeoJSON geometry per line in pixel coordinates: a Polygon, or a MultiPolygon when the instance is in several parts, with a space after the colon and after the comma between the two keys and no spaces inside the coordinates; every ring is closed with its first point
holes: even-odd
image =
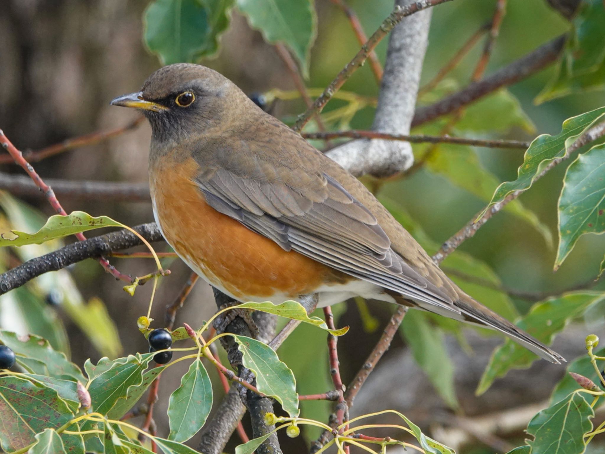
{"type": "MultiPolygon", "coordinates": [[[[533,182],[536,182],[541,177],[545,176],[552,168],[557,166],[559,163],[563,162],[566,159],[569,159],[574,151],[577,151],[581,146],[586,145],[587,143],[593,142],[605,135],[605,122],[601,122],[598,125],[590,128],[586,133],[582,134],[578,139],[572,143],[569,148],[567,148],[566,154],[563,157],[552,160],[545,168],[542,169],[540,173],[538,173],[533,182]]],[[[448,239],[439,251],[437,251],[433,255],[433,261],[437,264],[443,262],[443,259],[451,254],[458,246],[460,246],[466,239],[473,237],[476,234],[477,230],[479,230],[488,220],[497,212],[502,211],[502,209],[508,205],[512,200],[517,199],[518,196],[523,194],[526,189],[519,189],[518,191],[511,192],[502,200],[502,202],[495,203],[490,206],[485,213],[481,214],[481,212],[474,215],[473,219],[471,219],[462,229],[460,229],[456,234],[452,235],[450,239],[448,239]],[[480,217],[479,217],[480,215],[480,217]],[[479,219],[477,219],[479,217],[479,219]]]]}

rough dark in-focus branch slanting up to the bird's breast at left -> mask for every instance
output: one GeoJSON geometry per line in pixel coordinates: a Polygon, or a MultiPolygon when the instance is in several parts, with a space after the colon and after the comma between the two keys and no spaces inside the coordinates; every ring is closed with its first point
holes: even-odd
{"type": "MultiPolygon", "coordinates": [[[[154,222],[138,225],[134,229],[148,242],[162,240],[160,229],[154,222]]],[[[21,287],[27,281],[45,272],[57,271],[87,258],[102,257],[112,251],[122,251],[142,244],[134,233],[120,230],[64,246],[57,251],[32,258],[22,265],[0,274],[0,295],[21,287]]]]}

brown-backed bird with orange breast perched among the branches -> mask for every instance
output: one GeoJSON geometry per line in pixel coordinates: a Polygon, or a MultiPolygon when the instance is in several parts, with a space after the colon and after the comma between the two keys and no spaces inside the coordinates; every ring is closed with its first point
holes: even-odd
{"type": "Polygon", "coordinates": [[[149,188],[166,242],[237,301],[388,301],[500,331],[564,358],[462,291],[355,176],[227,77],[155,71],[112,105],[151,124],[149,188]]]}

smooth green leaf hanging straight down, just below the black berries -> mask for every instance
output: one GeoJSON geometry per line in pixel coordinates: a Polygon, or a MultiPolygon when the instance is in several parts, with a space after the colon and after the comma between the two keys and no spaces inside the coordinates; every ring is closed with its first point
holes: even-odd
{"type": "Polygon", "coordinates": [[[168,439],[187,441],[206,423],[212,409],[212,383],[200,358],[189,366],[168,402],[168,439]]]}

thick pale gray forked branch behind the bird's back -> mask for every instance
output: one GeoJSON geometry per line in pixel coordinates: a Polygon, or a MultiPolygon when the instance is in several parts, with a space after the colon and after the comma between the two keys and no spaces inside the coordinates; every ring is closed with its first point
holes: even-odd
{"type": "MultiPolygon", "coordinates": [[[[404,6],[410,0],[396,0],[404,6]]],[[[404,18],[391,32],[373,131],[409,134],[427,50],[431,9],[404,18]]],[[[352,174],[388,176],[409,168],[414,162],[407,142],[362,139],[347,142],[327,155],[352,174]]]]}

